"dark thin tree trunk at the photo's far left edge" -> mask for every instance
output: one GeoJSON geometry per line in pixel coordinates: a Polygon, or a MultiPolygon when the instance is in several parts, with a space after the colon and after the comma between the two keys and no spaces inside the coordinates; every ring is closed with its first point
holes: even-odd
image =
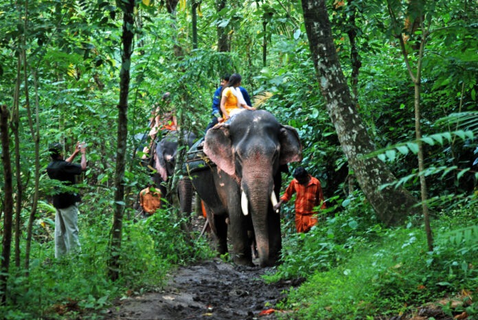
{"type": "Polygon", "coordinates": [[[13,181],[12,163],[10,161],[10,137],[8,135],[8,108],[0,106],[1,161],[3,164],[3,240],[0,268],[0,300],[7,301],[7,280],[12,249],[12,216],[13,216],[13,181]]]}

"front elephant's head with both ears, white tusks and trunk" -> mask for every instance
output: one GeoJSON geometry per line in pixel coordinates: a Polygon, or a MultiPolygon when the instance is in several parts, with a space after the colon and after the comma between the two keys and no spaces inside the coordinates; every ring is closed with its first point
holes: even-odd
{"type": "Polygon", "coordinates": [[[203,150],[218,171],[238,183],[242,213],[251,215],[260,265],[273,264],[277,257],[269,257],[269,249],[277,244],[270,242],[277,237],[280,242],[280,218],[272,209],[280,190],[275,184],[280,181],[280,165],[302,159],[297,131],[280,124],[267,111],[242,111],[229,124],[208,130],[203,150]],[[271,229],[271,225],[275,227],[271,229]]]}

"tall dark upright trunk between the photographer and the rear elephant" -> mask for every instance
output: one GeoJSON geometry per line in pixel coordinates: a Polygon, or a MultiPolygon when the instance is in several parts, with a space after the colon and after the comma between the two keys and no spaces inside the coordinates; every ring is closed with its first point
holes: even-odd
{"type": "Polygon", "coordinates": [[[120,277],[120,249],[124,215],[124,170],[126,166],[126,139],[128,137],[128,92],[131,54],[133,52],[133,26],[135,0],[123,1],[122,65],[120,71],[120,102],[118,104],[117,152],[115,168],[115,211],[109,243],[108,273],[111,281],[120,277]]]}

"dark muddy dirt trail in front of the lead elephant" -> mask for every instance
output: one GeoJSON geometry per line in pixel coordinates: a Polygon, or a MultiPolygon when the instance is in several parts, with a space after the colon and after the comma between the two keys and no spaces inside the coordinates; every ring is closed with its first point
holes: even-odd
{"type": "MultiPolygon", "coordinates": [[[[161,293],[119,301],[105,319],[277,319],[262,315],[301,282],[266,284],[269,268],[234,266],[215,259],[178,268],[161,293]]],[[[271,310],[269,310],[271,312],[271,310]]]]}

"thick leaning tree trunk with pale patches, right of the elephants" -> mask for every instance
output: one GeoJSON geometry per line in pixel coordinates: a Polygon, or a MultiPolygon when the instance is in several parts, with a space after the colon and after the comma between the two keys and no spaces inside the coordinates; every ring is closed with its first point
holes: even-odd
{"type": "Polygon", "coordinates": [[[341,70],[325,0],[303,0],[302,8],[317,81],[343,152],[378,218],[386,225],[398,225],[416,212],[413,206],[417,201],[403,189],[386,187],[379,190],[381,185],[395,181],[395,177],[376,157],[363,158],[375,147],[356,112],[341,70]]]}

